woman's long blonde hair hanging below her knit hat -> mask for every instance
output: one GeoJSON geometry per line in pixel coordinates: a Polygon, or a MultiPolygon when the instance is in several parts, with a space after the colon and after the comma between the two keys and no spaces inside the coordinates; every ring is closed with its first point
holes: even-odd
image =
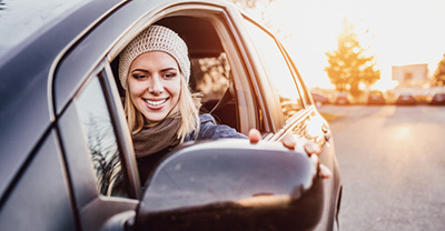
{"type": "MultiPolygon", "coordinates": [[[[182,73],[181,73],[182,74],[182,73]]],[[[182,143],[186,137],[195,131],[195,137],[199,132],[199,108],[201,106],[198,94],[191,93],[185,78],[180,78],[180,94],[178,103],[167,114],[166,118],[179,118],[180,127],[177,131],[177,138],[182,143]]],[[[147,121],[141,112],[139,112],[130,98],[129,87],[126,89],[125,113],[127,118],[128,129],[131,133],[137,133],[144,127],[156,125],[158,122],[147,121]]]]}

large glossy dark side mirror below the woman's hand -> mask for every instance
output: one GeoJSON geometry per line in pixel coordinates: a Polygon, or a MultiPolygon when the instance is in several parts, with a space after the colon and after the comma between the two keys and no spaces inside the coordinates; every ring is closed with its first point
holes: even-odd
{"type": "Polygon", "coordinates": [[[218,140],[179,149],[147,183],[136,230],[312,230],[318,160],[280,143],[218,140]]]}

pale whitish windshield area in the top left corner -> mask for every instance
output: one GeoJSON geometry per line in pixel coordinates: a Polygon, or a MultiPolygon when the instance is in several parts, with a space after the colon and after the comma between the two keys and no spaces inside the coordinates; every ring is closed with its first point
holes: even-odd
{"type": "Polygon", "coordinates": [[[0,57],[91,0],[0,0],[0,57]]]}

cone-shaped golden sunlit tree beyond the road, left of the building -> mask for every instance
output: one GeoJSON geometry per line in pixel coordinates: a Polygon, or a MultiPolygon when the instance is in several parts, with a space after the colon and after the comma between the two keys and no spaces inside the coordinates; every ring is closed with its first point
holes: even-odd
{"type": "Polygon", "coordinates": [[[358,42],[354,26],[347,19],[343,23],[337,50],[326,52],[328,66],[325,71],[337,91],[346,91],[357,98],[363,93],[359,84],[374,84],[380,79],[380,71],[375,69],[374,56],[365,54],[366,50],[358,42]]]}

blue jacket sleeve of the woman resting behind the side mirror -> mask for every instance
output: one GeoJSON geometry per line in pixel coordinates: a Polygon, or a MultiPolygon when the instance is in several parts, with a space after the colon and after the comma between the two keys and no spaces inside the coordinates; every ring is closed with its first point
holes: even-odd
{"type": "Polygon", "coordinates": [[[201,124],[197,140],[216,140],[224,138],[247,139],[245,134],[237,132],[228,125],[217,124],[215,118],[208,113],[201,114],[199,119],[201,124]]]}

